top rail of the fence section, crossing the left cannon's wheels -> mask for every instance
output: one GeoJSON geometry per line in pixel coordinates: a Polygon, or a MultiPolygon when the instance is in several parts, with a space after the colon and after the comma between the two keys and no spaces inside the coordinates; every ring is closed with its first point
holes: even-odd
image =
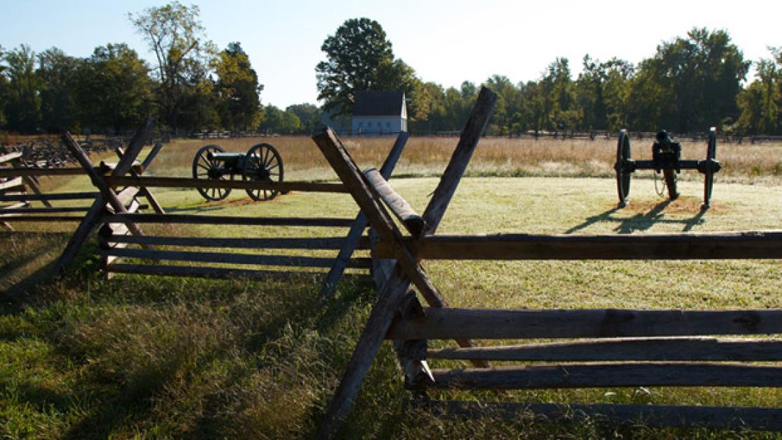
{"type": "Polygon", "coordinates": [[[321,182],[264,182],[261,180],[191,179],[185,177],[133,177],[109,176],[106,182],[112,187],[145,186],[158,188],[221,188],[221,189],[270,189],[276,191],[302,191],[309,193],[346,193],[340,183],[321,182]]]}

